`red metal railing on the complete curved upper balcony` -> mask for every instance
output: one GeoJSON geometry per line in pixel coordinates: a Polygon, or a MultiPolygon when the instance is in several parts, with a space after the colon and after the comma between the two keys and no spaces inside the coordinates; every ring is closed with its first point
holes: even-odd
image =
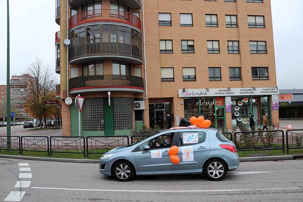
{"type": "Polygon", "coordinates": [[[88,22],[122,22],[125,24],[133,25],[141,30],[141,20],[137,16],[118,10],[111,9],[95,9],[77,13],[69,18],[69,28],[76,25],[81,25],[88,22]]]}

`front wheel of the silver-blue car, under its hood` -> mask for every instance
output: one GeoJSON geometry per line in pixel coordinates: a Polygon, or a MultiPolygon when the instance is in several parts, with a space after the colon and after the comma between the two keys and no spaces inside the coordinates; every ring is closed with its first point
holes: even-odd
{"type": "Polygon", "coordinates": [[[112,176],[122,182],[132,180],[135,176],[135,168],[128,161],[118,161],[112,168],[112,176]]]}

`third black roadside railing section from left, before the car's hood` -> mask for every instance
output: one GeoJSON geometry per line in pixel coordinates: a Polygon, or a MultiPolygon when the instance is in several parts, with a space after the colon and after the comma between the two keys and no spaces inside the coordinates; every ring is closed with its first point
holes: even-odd
{"type": "Polygon", "coordinates": [[[84,154],[85,138],[81,136],[51,136],[50,153],[84,154]]]}

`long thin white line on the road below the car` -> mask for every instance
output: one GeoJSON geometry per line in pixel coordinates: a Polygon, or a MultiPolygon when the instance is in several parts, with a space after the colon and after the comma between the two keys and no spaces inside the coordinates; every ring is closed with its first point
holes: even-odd
{"type": "Polygon", "coordinates": [[[32,187],[32,189],[55,189],[55,190],[76,190],[76,191],[114,191],[114,192],[226,192],[226,191],[264,191],[264,190],[291,190],[302,189],[300,187],[285,188],[263,188],[263,189],[226,189],[226,190],[107,190],[107,189],[71,189],[52,187],[32,187]]]}

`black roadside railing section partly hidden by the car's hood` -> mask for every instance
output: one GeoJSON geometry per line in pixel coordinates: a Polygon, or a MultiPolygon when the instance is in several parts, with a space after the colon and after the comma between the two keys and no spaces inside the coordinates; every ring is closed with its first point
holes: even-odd
{"type": "Polygon", "coordinates": [[[106,152],[129,144],[128,136],[90,136],[86,137],[86,152],[88,154],[105,154],[106,152]]]}

